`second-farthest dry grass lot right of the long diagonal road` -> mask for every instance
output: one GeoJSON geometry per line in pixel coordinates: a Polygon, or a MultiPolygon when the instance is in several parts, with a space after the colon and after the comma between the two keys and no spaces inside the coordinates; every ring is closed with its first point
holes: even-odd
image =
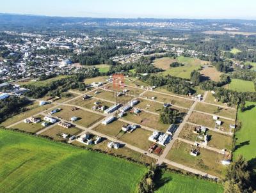
{"type": "Polygon", "coordinates": [[[203,103],[199,102],[198,104],[196,104],[195,110],[207,112],[207,113],[211,113],[211,114],[216,114],[218,116],[224,116],[227,118],[236,119],[236,110],[235,109],[216,107],[214,105],[207,105],[207,104],[203,104],[203,103]]]}

